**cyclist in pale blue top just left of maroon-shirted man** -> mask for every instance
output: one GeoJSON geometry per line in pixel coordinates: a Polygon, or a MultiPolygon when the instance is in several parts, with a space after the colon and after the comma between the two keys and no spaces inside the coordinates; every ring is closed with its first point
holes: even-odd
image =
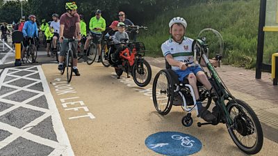
{"type": "Polygon", "coordinates": [[[59,38],[59,33],[60,33],[60,20],[59,20],[59,15],[54,13],[52,14],[52,22],[50,24],[50,26],[54,29],[54,36],[52,39],[52,44],[53,44],[53,52],[57,52],[57,40],[59,38]]]}

